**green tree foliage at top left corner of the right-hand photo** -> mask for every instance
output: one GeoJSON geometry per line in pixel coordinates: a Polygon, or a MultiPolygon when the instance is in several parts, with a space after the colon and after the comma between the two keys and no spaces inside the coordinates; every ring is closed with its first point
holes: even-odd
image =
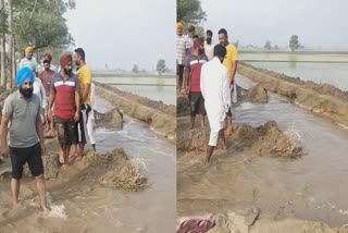
{"type": "Polygon", "coordinates": [[[200,0],[176,0],[176,19],[186,24],[199,24],[206,21],[207,14],[202,10],[200,0]]]}

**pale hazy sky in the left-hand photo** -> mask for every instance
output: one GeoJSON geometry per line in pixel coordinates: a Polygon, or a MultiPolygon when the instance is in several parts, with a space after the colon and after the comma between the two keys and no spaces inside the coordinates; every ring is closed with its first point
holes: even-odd
{"type": "Polygon", "coordinates": [[[75,46],[92,70],[175,69],[175,0],[76,0],[65,13],[75,46]]]}

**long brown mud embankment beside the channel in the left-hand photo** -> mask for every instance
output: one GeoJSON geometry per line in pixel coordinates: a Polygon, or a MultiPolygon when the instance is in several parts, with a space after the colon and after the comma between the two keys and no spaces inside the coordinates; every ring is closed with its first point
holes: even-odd
{"type": "Polygon", "coordinates": [[[175,106],[164,105],[162,101],[150,100],[112,87],[110,85],[95,82],[98,96],[107,99],[123,113],[145,121],[150,130],[170,142],[176,142],[176,111],[175,106]]]}

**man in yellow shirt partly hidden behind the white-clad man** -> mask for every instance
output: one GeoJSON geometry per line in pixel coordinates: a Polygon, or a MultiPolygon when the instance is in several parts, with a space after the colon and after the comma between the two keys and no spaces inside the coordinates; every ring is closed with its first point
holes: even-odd
{"type": "MultiPolygon", "coordinates": [[[[228,35],[225,28],[221,28],[219,30],[219,41],[226,48],[226,57],[224,59],[223,64],[226,66],[228,71],[228,83],[231,89],[231,101],[233,97],[233,91],[236,91],[235,87],[235,75],[237,71],[237,63],[238,63],[238,51],[234,45],[228,42],[228,35]]],[[[228,110],[227,118],[226,118],[227,128],[225,131],[225,136],[229,136],[233,133],[233,124],[232,124],[232,110],[228,110]]]]}

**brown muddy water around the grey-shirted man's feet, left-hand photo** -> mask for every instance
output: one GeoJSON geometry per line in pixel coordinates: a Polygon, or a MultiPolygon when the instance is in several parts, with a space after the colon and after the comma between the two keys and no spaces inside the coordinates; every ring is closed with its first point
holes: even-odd
{"type": "MultiPolygon", "coordinates": [[[[97,110],[110,109],[97,99],[97,110]]],[[[48,192],[55,217],[41,218],[36,187],[24,181],[22,213],[9,212],[9,180],[0,181],[0,232],[171,232],[175,228],[175,146],[158,138],[147,126],[126,118],[123,130],[98,125],[97,150],[123,147],[148,177],[142,191],[130,192],[72,177],[49,181],[48,192]],[[34,194],[33,194],[34,192],[34,194]],[[5,198],[3,198],[5,197],[5,198]]]]}

